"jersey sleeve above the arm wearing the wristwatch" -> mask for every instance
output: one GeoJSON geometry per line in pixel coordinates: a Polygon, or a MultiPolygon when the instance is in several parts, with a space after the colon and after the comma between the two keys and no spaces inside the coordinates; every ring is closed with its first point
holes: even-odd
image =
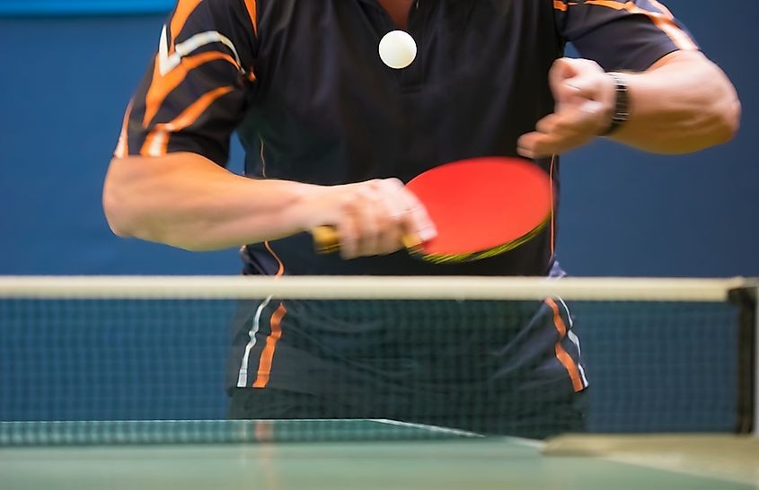
{"type": "Polygon", "coordinates": [[[554,0],[563,39],[606,70],[640,72],[678,50],[698,50],[657,0],[554,0]]]}

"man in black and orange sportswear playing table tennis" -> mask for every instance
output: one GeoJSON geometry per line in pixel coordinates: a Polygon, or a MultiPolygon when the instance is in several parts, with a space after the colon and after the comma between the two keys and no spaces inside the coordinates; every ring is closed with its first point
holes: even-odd
{"type": "MultiPolygon", "coordinates": [[[[121,236],[247,243],[245,274],[561,276],[553,225],[467,264],[398,252],[404,234],[436,234],[402,182],[518,154],[558,189],[555,155],[596,136],[693,152],[728,141],[739,112],[727,77],[656,0],[180,0],[130,103],[103,204],[121,236]],[[402,70],[377,56],[395,29],[419,48],[402,70]],[[568,41],[586,59],[562,58],[568,41]],[[224,169],[234,130],[246,177],[224,169]],[[322,224],[337,228],[340,257],[313,252],[307,231],[322,224]]],[[[451,305],[408,341],[415,328],[397,326],[423,314],[396,306],[382,321],[313,303],[243,309],[232,416],[581,428],[587,380],[563,304],[482,306],[485,323],[507,322],[476,341],[493,329],[451,305]],[[446,352],[428,352],[443,331],[446,352]]]]}

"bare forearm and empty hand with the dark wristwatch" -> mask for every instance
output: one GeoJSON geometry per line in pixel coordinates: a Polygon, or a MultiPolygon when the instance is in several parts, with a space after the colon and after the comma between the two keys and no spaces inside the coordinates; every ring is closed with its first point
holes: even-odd
{"type": "MultiPolygon", "coordinates": [[[[737,132],[740,102],[728,77],[698,52],[678,51],[639,74],[622,74],[630,88],[630,118],[613,139],[652,153],[691,153],[728,142],[737,132]]],[[[589,60],[560,59],[552,68],[557,105],[522,136],[527,157],[563,153],[609,126],[613,80],[589,60]]]]}

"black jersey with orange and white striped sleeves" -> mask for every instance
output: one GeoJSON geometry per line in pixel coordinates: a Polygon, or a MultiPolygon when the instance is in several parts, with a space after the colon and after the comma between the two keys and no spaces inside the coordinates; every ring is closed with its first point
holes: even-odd
{"type": "MultiPolygon", "coordinates": [[[[547,74],[568,41],[609,70],[696,49],[656,0],[419,0],[408,25],[419,55],[399,71],[377,54],[393,29],[376,0],[180,0],[116,155],[193,152],[225,165],[236,130],[252,178],[405,180],[443,162],[515,155],[516,139],[552,111],[547,74]]],[[[558,192],[558,162],[539,163],[558,192]]],[[[545,275],[555,232],[553,223],[464,265],[402,252],[343,261],[313,253],[305,235],[243,256],[252,274],[284,264],[287,274],[545,275]]]]}

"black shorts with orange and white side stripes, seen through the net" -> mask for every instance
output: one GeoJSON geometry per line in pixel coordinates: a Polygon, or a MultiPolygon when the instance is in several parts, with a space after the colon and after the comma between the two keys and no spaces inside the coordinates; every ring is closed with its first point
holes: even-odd
{"type": "Polygon", "coordinates": [[[587,379],[558,299],[272,302],[240,318],[232,418],[388,418],[533,438],[584,426],[587,379]]]}

